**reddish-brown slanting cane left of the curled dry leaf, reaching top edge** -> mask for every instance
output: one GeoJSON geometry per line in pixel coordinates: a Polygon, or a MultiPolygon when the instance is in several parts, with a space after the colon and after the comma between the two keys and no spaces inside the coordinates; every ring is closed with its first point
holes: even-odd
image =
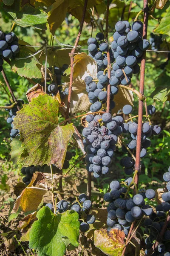
{"type": "Polygon", "coordinates": [[[85,12],[86,12],[86,9],[87,9],[87,3],[88,3],[88,0],[85,0],[84,8],[83,8],[83,14],[82,14],[82,20],[81,20],[80,27],[79,27],[79,33],[77,35],[77,38],[76,38],[76,41],[75,41],[75,44],[74,44],[74,48],[71,50],[71,55],[70,55],[71,73],[70,73],[70,85],[69,85],[69,91],[68,91],[67,109],[66,109],[66,114],[65,114],[66,119],[68,118],[68,113],[69,113],[70,104],[71,104],[73,73],[74,73],[74,56],[73,56],[73,54],[75,53],[75,50],[76,50],[77,45],[79,43],[79,38],[82,34],[82,27],[83,27],[84,20],[85,20],[85,12]]]}

